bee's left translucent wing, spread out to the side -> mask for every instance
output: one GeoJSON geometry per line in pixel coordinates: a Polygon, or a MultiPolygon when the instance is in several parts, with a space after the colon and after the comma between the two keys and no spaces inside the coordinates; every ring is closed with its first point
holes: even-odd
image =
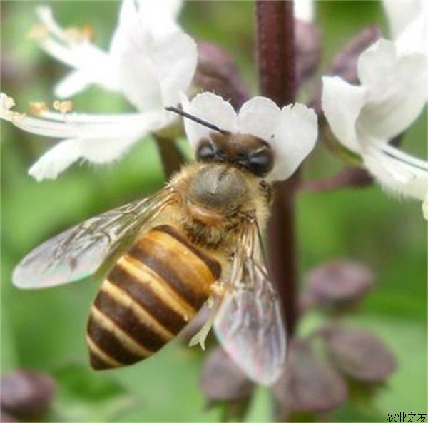
{"type": "Polygon", "coordinates": [[[31,251],[15,267],[14,285],[36,289],[76,282],[128,247],[141,226],[168,202],[163,190],[89,218],[31,251]]]}

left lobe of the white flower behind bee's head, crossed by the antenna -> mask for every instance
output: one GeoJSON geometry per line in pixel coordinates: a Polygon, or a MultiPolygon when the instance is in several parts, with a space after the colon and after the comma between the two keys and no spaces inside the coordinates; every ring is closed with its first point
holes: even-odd
{"type": "MultiPolygon", "coordinates": [[[[197,118],[211,123],[223,131],[236,132],[236,113],[233,107],[220,96],[213,93],[201,93],[195,96],[190,103],[182,96],[183,110],[197,118]]],[[[195,148],[200,139],[208,136],[213,130],[184,118],[185,133],[190,145],[195,148]]]]}

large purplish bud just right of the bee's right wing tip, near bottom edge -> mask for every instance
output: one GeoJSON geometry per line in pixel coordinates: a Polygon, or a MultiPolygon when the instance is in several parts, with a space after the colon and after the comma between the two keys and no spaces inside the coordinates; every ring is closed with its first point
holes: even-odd
{"type": "Polygon", "coordinates": [[[347,399],[347,385],[334,367],[317,357],[310,340],[292,340],[285,372],[273,387],[280,421],[290,412],[326,412],[347,399]]]}

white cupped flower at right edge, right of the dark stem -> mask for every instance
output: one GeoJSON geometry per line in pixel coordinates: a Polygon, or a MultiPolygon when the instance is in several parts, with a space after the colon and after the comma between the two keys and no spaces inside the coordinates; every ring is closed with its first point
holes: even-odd
{"type": "Polygon", "coordinates": [[[358,59],[360,86],[324,77],[322,108],[337,139],[387,190],[426,201],[428,164],[389,145],[424,108],[427,63],[380,39],[358,59]]]}

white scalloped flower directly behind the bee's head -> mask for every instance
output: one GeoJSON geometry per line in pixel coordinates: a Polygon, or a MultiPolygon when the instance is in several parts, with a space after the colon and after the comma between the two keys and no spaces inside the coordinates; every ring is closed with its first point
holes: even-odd
{"type": "MultiPolygon", "coordinates": [[[[237,114],[220,96],[201,93],[190,102],[183,96],[182,106],[184,111],[224,131],[248,133],[269,143],[275,154],[269,180],[290,178],[317,141],[317,116],[300,103],[281,109],[269,98],[254,97],[244,103],[237,114]]],[[[193,148],[211,131],[186,118],[184,125],[193,148]]]]}

